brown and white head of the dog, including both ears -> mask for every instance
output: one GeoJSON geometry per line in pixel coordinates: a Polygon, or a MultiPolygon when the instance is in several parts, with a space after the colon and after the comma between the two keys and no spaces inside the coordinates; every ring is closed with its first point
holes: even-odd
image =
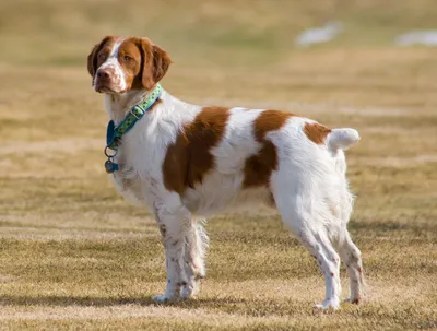
{"type": "Polygon", "coordinates": [[[95,91],[121,94],[152,90],[167,72],[172,59],[147,38],[107,36],[88,55],[95,91]]]}

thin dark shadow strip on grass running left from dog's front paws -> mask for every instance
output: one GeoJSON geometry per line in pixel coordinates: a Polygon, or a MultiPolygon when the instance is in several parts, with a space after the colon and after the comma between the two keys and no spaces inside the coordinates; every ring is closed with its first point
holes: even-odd
{"type": "MultiPolygon", "coordinates": [[[[165,304],[166,307],[200,308],[204,306],[244,304],[245,299],[236,298],[208,298],[178,300],[165,304]]],[[[144,297],[78,297],[78,296],[15,296],[5,295],[0,298],[0,306],[83,306],[83,307],[111,307],[122,305],[161,306],[153,302],[152,296],[144,297]]]]}

